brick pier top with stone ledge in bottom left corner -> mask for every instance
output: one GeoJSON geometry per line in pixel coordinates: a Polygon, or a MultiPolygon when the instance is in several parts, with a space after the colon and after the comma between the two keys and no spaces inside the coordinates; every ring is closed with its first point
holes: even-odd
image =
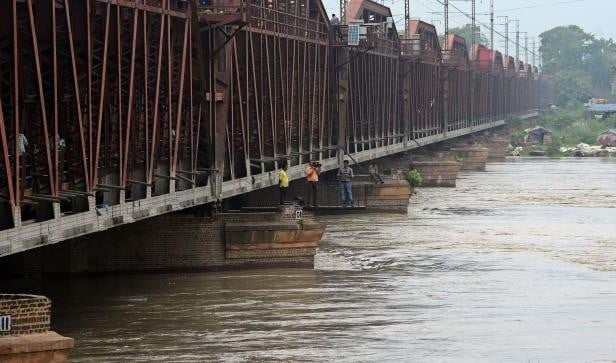
{"type": "Polygon", "coordinates": [[[75,343],[51,331],[50,325],[48,298],[0,294],[0,362],[67,361],[75,343]]]}

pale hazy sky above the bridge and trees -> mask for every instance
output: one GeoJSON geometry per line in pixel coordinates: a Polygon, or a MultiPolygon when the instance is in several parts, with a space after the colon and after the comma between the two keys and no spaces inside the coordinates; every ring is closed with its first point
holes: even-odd
{"type": "MultiPolygon", "coordinates": [[[[338,0],[323,0],[330,15],[339,13],[338,0]]],[[[381,2],[381,0],[377,0],[381,2]]],[[[433,22],[439,32],[443,31],[442,24],[442,0],[409,0],[411,18],[433,22]],[[440,12],[432,14],[432,12],[440,12]]],[[[392,9],[398,29],[404,27],[404,1],[384,0],[384,4],[392,9]]],[[[450,4],[464,12],[471,12],[471,2],[465,0],[450,0],[450,4]]],[[[477,13],[488,14],[490,9],[489,0],[477,0],[477,13]]],[[[520,19],[520,31],[528,32],[530,37],[537,36],[543,31],[559,25],[575,24],[587,32],[597,34],[604,38],[616,39],[616,0],[494,0],[494,9],[497,16],[509,16],[520,19]]],[[[450,27],[470,23],[470,19],[464,15],[454,13],[456,10],[450,7],[450,27]]],[[[489,24],[489,15],[479,15],[478,21],[489,24]]],[[[503,20],[497,20],[502,23],[503,20]]],[[[504,34],[504,26],[497,25],[496,30],[504,34]]],[[[488,29],[482,27],[482,31],[488,33],[488,29]]],[[[510,31],[515,31],[515,23],[510,25],[510,31]]],[[[495,36],[497,48],[502,49],[504,38],[495,36]]],[[[523,43],[523,41],[521,41],[523,43]]],[[[513,45],[510,45],[510,54],[513,45]]],[[[529,45],[530,47],[530,45],[529,45]]]]}

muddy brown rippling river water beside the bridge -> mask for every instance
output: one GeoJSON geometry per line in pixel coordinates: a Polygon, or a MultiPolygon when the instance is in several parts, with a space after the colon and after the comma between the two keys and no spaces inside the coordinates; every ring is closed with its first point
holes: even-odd
{"type": "Polygon", "coordinates": [[[317,269],[31,282],[75,361],[616,359],[616,162],[519,160],[327,219],[317,269]]]}

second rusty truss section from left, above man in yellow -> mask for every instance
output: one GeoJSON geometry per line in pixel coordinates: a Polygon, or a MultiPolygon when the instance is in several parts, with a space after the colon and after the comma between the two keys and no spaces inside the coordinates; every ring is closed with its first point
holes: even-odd
{"type": "Polygon", "coordinates": [[[320,1],[215,0],[199,20],[209,152],[223,180],[335,154],[331,29],[320,1]]]}

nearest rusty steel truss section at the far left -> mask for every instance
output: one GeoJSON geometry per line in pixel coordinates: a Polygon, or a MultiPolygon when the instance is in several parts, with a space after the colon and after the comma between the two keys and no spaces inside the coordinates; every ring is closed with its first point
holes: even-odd
{"type": "Polygon", "coordinates": [[[0,3],[3,186],[15,207],[3,224],[87,211],[89,196],[116,205],[197,184],[194,11],[169,0],[0,3]]]}

